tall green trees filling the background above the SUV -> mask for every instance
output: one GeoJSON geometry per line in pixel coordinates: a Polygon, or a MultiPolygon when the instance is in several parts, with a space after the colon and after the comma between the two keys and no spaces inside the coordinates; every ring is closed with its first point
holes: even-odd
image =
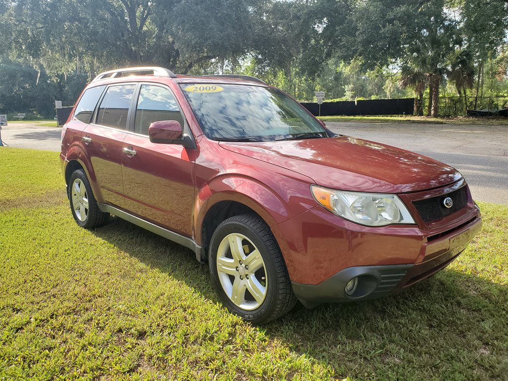
{"type": "Polygon", "coordinates": [[[428,93],[432,115],[443,85],[467,102],[487,73],[508,91],[505,0],[0,0],[0,16],[2,112],[49,116],[139,65],[257,75],[302,100],[415,96],[418,113],[428,93]]]}

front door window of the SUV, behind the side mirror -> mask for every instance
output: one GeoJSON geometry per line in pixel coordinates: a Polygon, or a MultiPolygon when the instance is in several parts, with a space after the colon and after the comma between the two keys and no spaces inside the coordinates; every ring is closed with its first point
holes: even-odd
{"type": "Polygon", "coordinates": [[[148,135],[148,127],[159,120],[178,120],[183,117],[171,92],[161,86],[142,85],[136,109],[134,132],[148,135]]]}

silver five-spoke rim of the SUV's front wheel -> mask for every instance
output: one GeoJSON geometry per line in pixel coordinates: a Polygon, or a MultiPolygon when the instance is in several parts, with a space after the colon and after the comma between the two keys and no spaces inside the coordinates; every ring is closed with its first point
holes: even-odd
{"type": "Polygon", "coordinates": [[[259,308],[266,297],[265,262],[255,244],[244,235],[229,234],[217,250],[217,274],[224,292],[238,307],[259,308]]]}

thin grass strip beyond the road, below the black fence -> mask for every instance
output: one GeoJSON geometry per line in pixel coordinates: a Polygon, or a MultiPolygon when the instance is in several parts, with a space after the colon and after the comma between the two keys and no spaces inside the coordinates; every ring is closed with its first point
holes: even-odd
{"type": "Polygon", "coordinates": [[[413,115],[337,115],[320,116],[325,122],[372,122],[372,123],[441,123],[441,124],[482,124],[482,125],[508,125],[508,118],[431,118],[427,116],[413,115]]]}

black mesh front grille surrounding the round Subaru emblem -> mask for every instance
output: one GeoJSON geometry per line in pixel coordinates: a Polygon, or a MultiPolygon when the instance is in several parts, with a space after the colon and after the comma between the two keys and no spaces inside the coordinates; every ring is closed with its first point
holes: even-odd
{"type": "Polygon", "coordinates": [[[420,214],[420,218],[426,223],[437,221],[450,214],[456,213],[465,207],[466,204],[467,192],[465,186],[446,195],[413,201],[413,205],[415,205],[418,214],[420,214]],[[443,200],[447,197],[450,197],[453,201],[453,206],[451,208],[447,208],[443,204],[443,200]]]}

